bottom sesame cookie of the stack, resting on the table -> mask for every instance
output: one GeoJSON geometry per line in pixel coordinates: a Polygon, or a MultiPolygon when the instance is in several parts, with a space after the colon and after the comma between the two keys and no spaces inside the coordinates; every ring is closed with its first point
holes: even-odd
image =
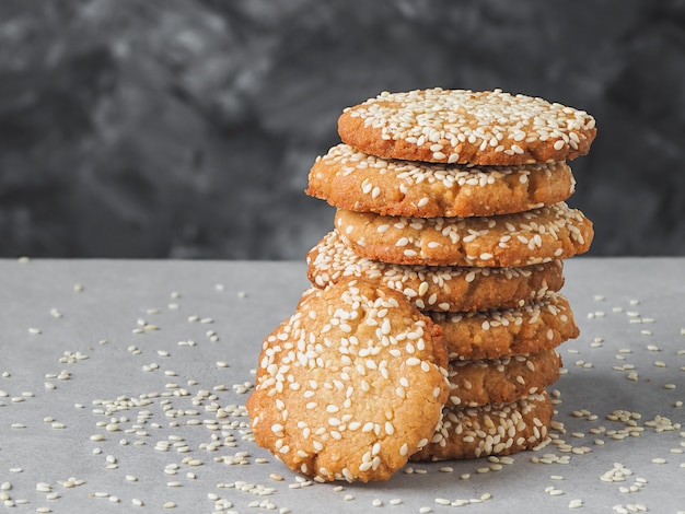
{"type": "Polygon", "coordinates": [[[511,404],[448,407],[431,443],[411,460],[445,460],[511,455],[548,442],[554,409],[547,392],[511,404]]]}

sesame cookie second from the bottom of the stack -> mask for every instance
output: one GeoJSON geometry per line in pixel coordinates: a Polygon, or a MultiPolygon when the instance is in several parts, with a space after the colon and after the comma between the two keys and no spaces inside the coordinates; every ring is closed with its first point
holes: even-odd
{"type": "Polygon", "coordinates": [[[480,407],[508,404],[545,390],[559,378],[561,358],[556,350],[492,360],[451,361],[448,406],[480,407]]]}

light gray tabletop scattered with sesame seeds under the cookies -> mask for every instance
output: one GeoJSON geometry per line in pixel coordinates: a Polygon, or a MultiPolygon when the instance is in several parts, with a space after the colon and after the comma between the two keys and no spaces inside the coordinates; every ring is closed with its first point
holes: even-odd
{"type": "Polygon", "coordinates": [[[685,512],[685,259],[565,274],[581,336],[559,348],[556,444],[322,484],[243,409],[304,262],[0,260],[0,511],[685,512]]]}

